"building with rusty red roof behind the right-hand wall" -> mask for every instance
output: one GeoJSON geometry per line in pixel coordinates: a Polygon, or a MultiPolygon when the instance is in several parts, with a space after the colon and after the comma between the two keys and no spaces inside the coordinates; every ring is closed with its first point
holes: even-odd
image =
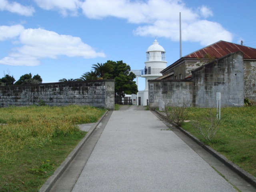
{"type": "Polygon", "coordinates": [[[163,76],[158,79],[191,79],[192,71],[198,68],[200,58],[206,54],[218,59],[238,51],[243,53],[244,97],[256,100],[256,49],[222,40],[183,56],[162,70],[163,76]]]}

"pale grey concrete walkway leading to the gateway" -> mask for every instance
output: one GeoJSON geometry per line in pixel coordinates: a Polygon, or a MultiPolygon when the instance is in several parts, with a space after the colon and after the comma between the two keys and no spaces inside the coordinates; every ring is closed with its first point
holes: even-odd
{"type": "Polygon", "coordinates": [[[236,191],[151,111],[131,107],[112,113],[72,192],[236,191]]]}

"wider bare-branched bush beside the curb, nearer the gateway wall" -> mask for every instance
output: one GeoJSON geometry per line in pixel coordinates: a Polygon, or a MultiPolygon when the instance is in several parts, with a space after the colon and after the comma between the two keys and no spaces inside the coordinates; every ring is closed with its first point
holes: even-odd
{"type": "Polygon", "coordinates": [[[178,102],[177,104],[169,102],[160,112],[160,119],[180,126],[187,118],[188,108],[190,106],[190,102],[188,100],[185,101],[184,98],[182,102],[178,102]]]}

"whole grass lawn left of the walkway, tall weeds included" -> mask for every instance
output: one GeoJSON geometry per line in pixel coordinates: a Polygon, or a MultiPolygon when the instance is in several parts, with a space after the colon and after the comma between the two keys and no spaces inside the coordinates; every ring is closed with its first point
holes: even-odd
{"type": "Polygon", "coordinates": [[[90,106],[0,108],[0,192],[36,192],[105,109],[90,106]]]}

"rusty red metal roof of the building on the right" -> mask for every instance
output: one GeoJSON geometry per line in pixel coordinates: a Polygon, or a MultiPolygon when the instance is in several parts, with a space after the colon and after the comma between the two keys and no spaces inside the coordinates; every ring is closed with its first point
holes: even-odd
{"type": "Polygon", "coordinates": [[[237,51],[242,51],[244,53],[244,59],[256,58],[256,49],[222,40],[214,44],[211,44],[205,48],[202,48],[196,52],[188,54],[183,58],[202,58],[207,53],[210,54],[210,56],[213,56],[214,58],[220,58],[222,56],[237,51]]]}

